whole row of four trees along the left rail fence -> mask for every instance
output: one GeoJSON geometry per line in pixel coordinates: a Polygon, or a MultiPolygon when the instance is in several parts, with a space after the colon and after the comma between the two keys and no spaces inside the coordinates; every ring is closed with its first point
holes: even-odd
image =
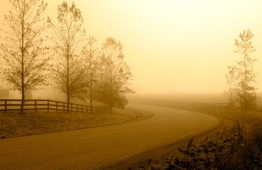
{"type": "MultiPolygon", "coordinates": [[[[54,85],[72,98],[125,107],[132,93],[132,73],[124,61],[120,41],[108,37],[103,45],[87,37],[81,10],[63,1],[57,19],[45,18],[48,3],[39,0],[11,0],[12,10],[4,16],[1,50],[1,79],[10,89],[21,92],[21,112],[25,94],[54,85]]],[[[69,105],[68,105],[69,111],[69,105]]]]}

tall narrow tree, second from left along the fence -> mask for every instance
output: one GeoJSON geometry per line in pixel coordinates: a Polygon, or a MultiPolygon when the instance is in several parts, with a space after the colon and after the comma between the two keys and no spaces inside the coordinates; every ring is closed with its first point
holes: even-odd
{"type": "Polygon", "coordinates": [[[83,17],[74,2],[68,6],[66,1],[58,6],[58,23],[48,22],[52,28],[51,38],[53,50],[56,55],[54,66],[54,81],[57,89],[67,96],[67,111],[69,111],[70,98],[79,96],[83,87],[84,70],[81,63],[81,45],[85,37],[82,28],[83,17]]]}

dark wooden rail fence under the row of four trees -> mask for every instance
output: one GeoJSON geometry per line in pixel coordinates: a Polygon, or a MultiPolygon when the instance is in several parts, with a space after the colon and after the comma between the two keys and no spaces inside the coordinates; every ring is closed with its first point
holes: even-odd
{"type": "MultiPolygon", "coordinates": [[[[68,103],[55,100],[24,100],[24,110],[30,111],[60,111],[67,112],[68,103]]],[[[20,111],[22,100],[19,99],[0,99],[0,111],[20,111]]],[[[79,113],[91,113],[88,105],[69,104],[69,111],[79,113]]],[[[104,107],[92,107],[92,113],[105,113],[104,107]]]]}

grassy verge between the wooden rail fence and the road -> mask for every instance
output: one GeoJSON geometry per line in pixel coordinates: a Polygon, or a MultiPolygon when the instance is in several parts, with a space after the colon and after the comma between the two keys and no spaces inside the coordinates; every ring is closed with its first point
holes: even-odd
{"type": "Polygon", "coordinates": [[[46,134],[90,127],[128,123],[150,114],[132,109],[114,110],[112,114],[81,114],[47,111],[0,112],[0,138],[46,134]]]}

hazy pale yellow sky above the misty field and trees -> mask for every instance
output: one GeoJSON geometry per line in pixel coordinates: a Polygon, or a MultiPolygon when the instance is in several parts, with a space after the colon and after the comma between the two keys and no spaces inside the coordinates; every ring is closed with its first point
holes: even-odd
{"type": "MultiPolygon", "coordinates": [[[[57,18],[60,0],[47,0],[47,14],[57,18]]],[[[72,1],[68,1],[71,3],[72,1]]],[[[230,0],[76,0],[88,35],[99,44],[121,41],[125,61],[139,93],[223,92],[234,39],[244,29],[254,33],[254,65],[262,91],[262,1],[230,0]]],[[[10,9],[1,0],[0,19],[10,9]]]]}

